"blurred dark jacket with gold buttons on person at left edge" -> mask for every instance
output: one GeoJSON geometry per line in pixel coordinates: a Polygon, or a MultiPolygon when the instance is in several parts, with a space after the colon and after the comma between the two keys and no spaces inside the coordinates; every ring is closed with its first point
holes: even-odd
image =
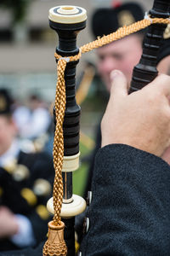
{"type": "MultiPolygon", "coordinates": [[[[26,154],[20,152],[17,165],[14,170],[8,173],[0,168],[1,176],[6,179],[1,195],[1,205],[8,207],[15,214],[25,215],[31,221],[32,229],[37,244],[46,239],[48,233],[48,221],[51,220],[46,204],[52,196],[54,183],[53,160],[44,153],[26,154]],[[29,175],[21,180],[14,179],[17,168],[27,167],[29,175]],[[43,181],[47,183],[43,184],[43,181]],[[37,183],[42,185],[41,190],[37,191],[37,183]],[[48,192],[43,193],[43,185],[48,187],[48,192]],[[33,196],[32,196],[33,195],[33,196]]],[[[2,179],[1,179],[2,180],[2,179]]],[[[0,240],[0,251],[18,249],[12,241],[8,239],[0,240]]]]}

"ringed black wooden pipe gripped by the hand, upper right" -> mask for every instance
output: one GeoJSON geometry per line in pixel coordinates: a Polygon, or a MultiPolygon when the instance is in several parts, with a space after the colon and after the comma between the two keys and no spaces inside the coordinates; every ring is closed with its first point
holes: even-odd
{"type": "MultiPolygon", "coordinates": [[[[149,15],[151,18],[168,18],[170,15],[170,0],[155,0],[149,15]]],[[[133,78],[129,92],[142,89],[156,78],[157,55],[161,46],[163,32],[167,25],[151,24],[144,37],[143,54],[133,68],[133,78]]]]}

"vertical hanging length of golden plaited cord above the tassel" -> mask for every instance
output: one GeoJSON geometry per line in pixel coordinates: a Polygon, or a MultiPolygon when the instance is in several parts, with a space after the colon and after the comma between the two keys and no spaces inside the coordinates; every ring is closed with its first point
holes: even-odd
{"type": "Polygon", "coordinates": [[[60,224],[60,209],[63,201],[63,180],[62,180],[62,165],[64,156],[64,143],[63,143],[63,120],[65,116],[65,67],[66,61],[60,59],[58,61],[58,81],[56,85],[55,96],[55,116],[56,127],[54,133],[54,224],[60,224]]]}

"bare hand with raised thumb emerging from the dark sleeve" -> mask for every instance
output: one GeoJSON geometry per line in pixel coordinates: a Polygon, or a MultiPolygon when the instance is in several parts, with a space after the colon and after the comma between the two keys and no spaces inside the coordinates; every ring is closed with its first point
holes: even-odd
{"type": "Polygon", "coordinates": [[[114,70],[111,80],[101,122],[102,147],[122,143],[161,156],[170,145],[170,77],[160,74],[130,95],[122,72],[114,70]]]}

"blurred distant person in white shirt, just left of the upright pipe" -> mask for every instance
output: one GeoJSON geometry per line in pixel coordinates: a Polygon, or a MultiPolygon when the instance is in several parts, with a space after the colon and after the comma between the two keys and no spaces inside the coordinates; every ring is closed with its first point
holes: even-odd
{"type": "Polygon", "coordinates": [[[23,146],[30,145],[31,150],[46,150],[52,155],[52,143],[49,139],[53,137],[53,125],[48,104],[42,101],[40,96],[31,95],[28,98],[27,107],[16,107],[13,116],[23,146]]]}

